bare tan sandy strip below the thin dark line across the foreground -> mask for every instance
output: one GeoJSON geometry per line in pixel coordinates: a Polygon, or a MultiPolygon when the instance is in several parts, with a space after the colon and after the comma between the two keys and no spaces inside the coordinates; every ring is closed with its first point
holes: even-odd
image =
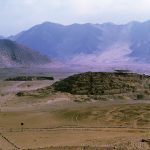
{"type": "Polygon", "coordinates": [[[141,143],[141,137],[149,137],[150,132],[126,129],[97,129],[94,130],[51,130],[51,131],[18,131],[3,133],[19,148],[37,148],[49,146],[95,146],[108,147],[126,143],[136,145],[142,149],[148,148],[146,143],[141,143]]]}

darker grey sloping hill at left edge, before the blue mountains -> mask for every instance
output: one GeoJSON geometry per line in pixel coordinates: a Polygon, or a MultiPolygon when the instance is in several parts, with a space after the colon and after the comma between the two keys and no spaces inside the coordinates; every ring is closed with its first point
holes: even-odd
{"type": "Polygon", "coordinates": [[[50,60],[38,52],[10,40],[0,39],[0,67],[43,65],[50,60]]]}

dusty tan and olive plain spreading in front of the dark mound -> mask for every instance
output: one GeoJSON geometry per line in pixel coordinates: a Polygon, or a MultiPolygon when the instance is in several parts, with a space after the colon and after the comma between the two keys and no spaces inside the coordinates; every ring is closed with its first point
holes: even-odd
{"type": "Polygon", "coordinates": [[[52,83],[0,81],[0,149],[150,149],[149,100],[75,103],[64,93],[16,96],[52,83]]]}

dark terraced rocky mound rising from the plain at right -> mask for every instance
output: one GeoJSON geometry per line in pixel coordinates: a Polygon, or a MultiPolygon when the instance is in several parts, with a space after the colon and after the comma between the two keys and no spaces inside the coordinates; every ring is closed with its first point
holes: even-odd
{"type": "Polygon", "coordinates": [[[150,93],[150,77],[136,73],[87,72],[70,76],[52,86],[56,91],[75,95],[136,94],[142,99],[150,93]]]}

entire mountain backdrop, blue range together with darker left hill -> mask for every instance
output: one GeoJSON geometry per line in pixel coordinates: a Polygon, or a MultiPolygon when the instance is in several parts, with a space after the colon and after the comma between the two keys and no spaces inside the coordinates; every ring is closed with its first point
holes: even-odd
{"type": "Polygon", "coordinates": [[[150,63],[149,33],[150,21],[124,25],[44,22],[7,40],[0,36],[0,67],[150,63]]]}

